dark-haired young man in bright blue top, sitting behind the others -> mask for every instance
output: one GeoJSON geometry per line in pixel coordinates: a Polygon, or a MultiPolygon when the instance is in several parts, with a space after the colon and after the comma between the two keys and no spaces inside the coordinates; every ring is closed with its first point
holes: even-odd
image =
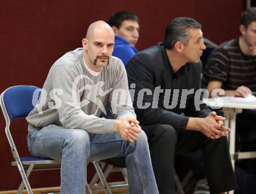
{"type": "Polygon", "coordinates": [[[130,12],[116,12],[109,18],[108,24],[115,32],[113,56],[127,64],[138,51],[134,47],[138,42],[138,17],[130,12]]]}

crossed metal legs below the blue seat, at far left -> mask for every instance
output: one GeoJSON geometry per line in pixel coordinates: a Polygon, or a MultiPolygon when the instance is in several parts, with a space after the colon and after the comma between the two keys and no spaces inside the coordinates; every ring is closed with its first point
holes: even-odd
{"type": "MultiPolygon", "coordinates": [[[[16,161],[17,162],[17,161],[16,161]]],[[[21,163],[21,162],[20,162],[21,163]]],[[[25,173],[23,166],[19,166],[20,164],[17,162],[17,167],[20,170],[20,174],[22,175],[22,182],[20,183],[20,186],[17,190],[17,194],[22,193],[22,191],[24,190],[25,186],[27,189],[27,193],[29,194],[33,194],[31,186],[29,184],[29,175],[31,173],[31,171],[34,168],[34,163],[31,163],[29,166],[29,169],[27,169],[27,173],[25,173]]]]}

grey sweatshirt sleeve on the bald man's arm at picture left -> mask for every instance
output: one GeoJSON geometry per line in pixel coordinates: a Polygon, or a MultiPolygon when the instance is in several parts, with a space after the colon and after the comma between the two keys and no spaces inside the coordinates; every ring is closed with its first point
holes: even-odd
{"type": "Polygon", "coordinates": [[[51,72],[52,86],[63,91],[62,95],[54,96],[54,101],[61,100],[57,108],[59,120],[63,127],[83,129],[88,133],[113,133],[115,120],[98,118],[85,114],[80,108],[80,83],[74,87],[74,80],[79,76],[77,69],[70,65],[56,65],[51,72]]]}

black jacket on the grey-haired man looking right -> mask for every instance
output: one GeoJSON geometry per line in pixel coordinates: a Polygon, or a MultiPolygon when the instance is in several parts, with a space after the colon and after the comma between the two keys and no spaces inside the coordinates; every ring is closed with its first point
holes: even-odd
{"type": "Polygon", "coordinates": [[[177,72],[173,71],[162,43],[137,53],[126,65],[126,71],[131,96],[135,90],[133,107],[141,124],[168,124],[176,130],[184,130],[189,121],[188,116],[204,118],[209,114],[210,110],[205,104],[194,103],[194,99],[202,99],[201,92],[196,93],[201,88],[202,65],[187,63],[177,72]],[[132,83],[136,84],[135,88],[132,83]],[[141,89],[150,89],[152,93],[148,90],[140,91],[141,89]],[[155,91],[159,89],[162,91],[158,93],[159,100],[156,100],[158,95],[155,91]],[[175,95],[173,95],[175,89],[175,95]],[[185,97],[182,95],[182,90],[186,92],[184,89],[194,90],[190,90],[193,93],[187,98],[182,98],[182,96],[185,97]],[[138,98],[139,91],[139,96],[143,98],[138,98]],[[143,93],[144,95],[141,95],[143,93]],[[177,100],[174,100],[175,96],[177,100]],[[176,106],[175,101],[177,101],[176,106]],[[186,104],[181,101],[186,101],[186,104]],[[141,105],[146,105],[147,108],[141,108],[141,105]],[[200,108],[200,111],[196,108],[200,108]]]}

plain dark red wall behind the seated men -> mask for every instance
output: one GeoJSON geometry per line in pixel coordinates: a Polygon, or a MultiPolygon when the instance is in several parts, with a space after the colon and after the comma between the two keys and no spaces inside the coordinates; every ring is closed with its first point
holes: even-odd
{"type": "MultiPolygon", "coordinates": [[[[92,1],[34,0],[0,2],[0,92],[13,85],[42,87],[48,70],[64,53],[81,46],[87,27],[96,20],[107,21],[120,10],[140,18],[138,50],[162,41],[165,27],[174,17],[193,17],[202,24],[204,36],[216,43],[239,35],[238,20],[244,0],[179,1],[92,1]]],[[[24,120],[15,120],[15,140],[22,155],[28,156],[24,120]]],[[[0,191],[17,189],[21,180],[4,132],[0,114],[0,191]]],[[[90,170],[88,176],[93,172],[90,170]]],[[[34,187],[58,186],[59,171],[32,173],[34,187]]]]}

